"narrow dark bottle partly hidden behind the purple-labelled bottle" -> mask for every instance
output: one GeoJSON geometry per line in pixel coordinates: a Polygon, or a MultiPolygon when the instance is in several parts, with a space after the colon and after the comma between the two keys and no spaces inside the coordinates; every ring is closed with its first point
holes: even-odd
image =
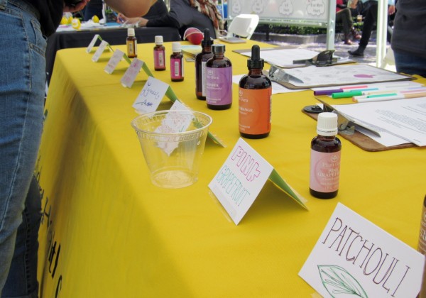
{"type": "Polygon", "coordinates": [[[201,53],[195,56],[195,95],[197,99],[205,100],[205,69],[207,60],[213,57],[212,53],[213,40],[210,38],[209,29],[204,29],[204,39],[201,41],[201,53]]]}

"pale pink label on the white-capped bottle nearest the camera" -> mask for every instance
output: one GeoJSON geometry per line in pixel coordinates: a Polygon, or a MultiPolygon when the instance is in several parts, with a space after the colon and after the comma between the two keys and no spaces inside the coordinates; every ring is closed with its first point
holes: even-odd
{"type": "Polygon", "coordinates": [[[311,150],[310,189],[317,192],[335,192],[339,189],[340,153],[311,150]]]}

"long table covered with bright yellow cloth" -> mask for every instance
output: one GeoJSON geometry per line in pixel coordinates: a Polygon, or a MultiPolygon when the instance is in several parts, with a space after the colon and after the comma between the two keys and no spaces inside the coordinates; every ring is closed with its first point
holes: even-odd
{"type": "MultiPolygon", "coordinates": [[[[234,75],[247,72],[247,57],[231,49],[254,43],[226,44],[234,75]]],[[[165,47],[168,57],[171,43],[165,47]]],[[[152,50],[139,45],[151,70],[152,50]]],[[[239,138],[236,84],[231,109],[212,111],[195,96],[193,62],[185,62],[183,82],[171,82],[169,65],[153,72],[185,104],[212,116],[211,131],[227,145],[207,139],[199,181],[162,189],[151,183],[130,125],[148,77],[141,72],[122,87],[129,65],[120,62],[107,75],[109,57],[92,62],[85,48],[56,57],[37,165],[41,297],[310,297],[315,290],[297,274],[338,202],[417,248],[426,148],[367,152],[341,138],[339,194],[315,199],[309,159],[316,121],[301,110],[317,101],[312,91],[273,95],[271,135],[246,141],[308,199],[309,211],[267,182],[236,226],[207,187],[239,138]]],[[[164,98],[159,109],[170,106],[164,98]]]]}

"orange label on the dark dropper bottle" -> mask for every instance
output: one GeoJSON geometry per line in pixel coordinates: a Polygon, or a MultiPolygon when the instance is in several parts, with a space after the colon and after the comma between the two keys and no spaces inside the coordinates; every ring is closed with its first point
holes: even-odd
{"type": "Polygon", "coordinates": [[[261,135],[271,131],[272,87],[266,89],[239,88],[239,131],[261,135]]]}

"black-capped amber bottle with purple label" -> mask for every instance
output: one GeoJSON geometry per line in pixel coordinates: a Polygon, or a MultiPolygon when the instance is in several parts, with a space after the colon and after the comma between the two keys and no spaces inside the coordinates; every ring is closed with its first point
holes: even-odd
{"type": "Polygon", "coordinates": [[[207,108],[225,110],[232,105],[232,63],[224,56],[225,45],[212,45],[213,57],[206,63],[207,108]]]}

